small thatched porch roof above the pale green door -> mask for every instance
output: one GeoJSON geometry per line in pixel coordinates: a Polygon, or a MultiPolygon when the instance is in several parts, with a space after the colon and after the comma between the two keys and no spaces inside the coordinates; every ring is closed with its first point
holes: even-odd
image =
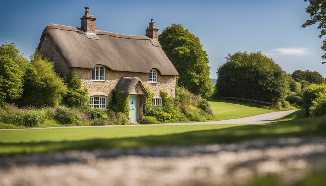
{"type": "Polygon", "coordinates": [[[134,89],[137,83],[141,86],[141,89],[144,91],[144,93],[148,95],[144,86],[141,83],[141,79],[139,78],[130,78],[130,77],[121,78],[118,81],[117,85],[115,86],[115,91],[117,92],[123,91],[127,94],[130,94],[132,89],[134,89]]]}

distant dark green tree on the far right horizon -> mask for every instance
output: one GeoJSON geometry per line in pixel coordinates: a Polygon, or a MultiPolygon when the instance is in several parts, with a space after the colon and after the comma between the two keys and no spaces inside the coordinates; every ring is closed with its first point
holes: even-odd
{"type": "Polygon", "coordinates": [[[325,79],[319,74],[318,72],[314,71],[301,71],[296,70],[292,73],[292,78],[296,80],[297,82],[306,80],[309,81],[309,83],[315,83],[315,84],[321,84],[325,82],[325,79]]]}

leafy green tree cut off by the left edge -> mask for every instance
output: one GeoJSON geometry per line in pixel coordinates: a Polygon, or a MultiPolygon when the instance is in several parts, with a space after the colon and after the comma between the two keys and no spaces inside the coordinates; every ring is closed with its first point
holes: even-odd
{"type": "Polygon", "coordinates": [[[0,46],[0,103],[21,97],[28,60],[19,52],[15,43],[0,46]]]}

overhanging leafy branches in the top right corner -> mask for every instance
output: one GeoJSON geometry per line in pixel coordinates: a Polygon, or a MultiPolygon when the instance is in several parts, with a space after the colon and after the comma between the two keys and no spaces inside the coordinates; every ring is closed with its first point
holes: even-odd
{"type": "MultiPolygon", "coordinates": [[[[307,2],[308,0],[304,0],[307,2]]],[[[325,0],[309,0],[309,6],[306,7],[305,11],[310,15],[309,20],[307,20],[301,27],[310,26],[319,22],[318,29],[321,29],[319,38],[326,34],[326,1],[325,0]]],[[[326,39],[323,40],[322,50],[326,51],[326,39]]],[[[326,53],[321,56],[326,60],[326,53]]],[[[321,64],[325,64],[326,61],[321,64]]]]}

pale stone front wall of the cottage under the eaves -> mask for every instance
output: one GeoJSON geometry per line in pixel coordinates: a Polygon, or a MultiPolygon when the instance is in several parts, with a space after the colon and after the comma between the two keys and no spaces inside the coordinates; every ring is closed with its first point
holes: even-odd
{"type": "MultiPolygon", "coordinates": [[[[82,80],[82,88],[87,88],[89,96],[105,95],[107,100],[112,98],[112,89],[122,77],[138,77],[141,79],[144,87],[150,89],[159,96],[161,90],[168,92],[169,96],[175,97],[175,76],[161,76],[157,75],[158,83],[148,83],[148,73],[139,72],[122,72],[105,69],[105,81],[92,81],[92,69],[87,68],[72,68],[72,72],[79,74],[82,80]]],[[[108,101],[107,101],[108,103],[108,101]]]]}

